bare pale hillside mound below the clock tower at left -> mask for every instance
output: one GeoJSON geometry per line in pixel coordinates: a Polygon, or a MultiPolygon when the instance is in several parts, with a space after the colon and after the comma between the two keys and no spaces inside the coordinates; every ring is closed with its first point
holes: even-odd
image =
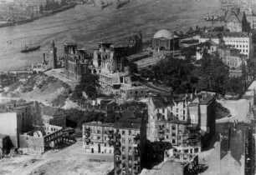
{"type": "Polygon", "coordinates": [[[16,82],[3,92],[3,97],[23,98],[45,105],[63,107],[72,92],[69,84],[46,74],[33,75],[26,82],[16,82]]]}

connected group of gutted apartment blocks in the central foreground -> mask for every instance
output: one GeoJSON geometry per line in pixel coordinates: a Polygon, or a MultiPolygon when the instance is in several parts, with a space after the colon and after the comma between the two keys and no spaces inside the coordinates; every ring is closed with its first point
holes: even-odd
{"type": "Polygon", "coordinates": [[[152,96],[148,115],[83,124],[86,153],[113,154],[115,174],[139,174],[151,163],[177,163],[197,174],[197,154],[215,132],[215,94],[152,96]],[[196,162],[196,163],[195,163],[196,162]]]}

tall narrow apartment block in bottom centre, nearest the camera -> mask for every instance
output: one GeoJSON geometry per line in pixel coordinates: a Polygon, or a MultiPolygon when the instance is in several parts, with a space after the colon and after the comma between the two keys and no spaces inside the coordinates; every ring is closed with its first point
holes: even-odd
{"type": "Polygon", "coordinates": [[[146,121],[126,118],[115,123],[115,175],[139,174],[144,166],[146,121]]]}

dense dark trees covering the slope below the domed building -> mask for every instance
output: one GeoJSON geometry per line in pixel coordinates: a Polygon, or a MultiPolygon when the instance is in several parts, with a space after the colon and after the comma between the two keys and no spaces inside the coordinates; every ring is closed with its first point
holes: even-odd
{"type": "MultiPolygon", "coordinates": [[[[199,66],[189,57],[185,60],[172,57],[151,68],[151,79],[172,87],[176,93],[205,90],[222,95],[238,94],[243,91],[245,77],[229,77],[228,69],[218,56],[207,53],[199,66]]],[[[147,73],[144,76],[149,77],[147,73]]]]}

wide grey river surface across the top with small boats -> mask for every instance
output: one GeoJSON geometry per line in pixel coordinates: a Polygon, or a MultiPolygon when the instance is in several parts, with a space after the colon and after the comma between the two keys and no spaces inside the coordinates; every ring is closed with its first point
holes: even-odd
{"type": "Polygon", "coordinates": [[[120,9],[111,5],[104,10],[85,4],[33,23],[0,28],[0,71],[40,62],[51,40],[62,55],[64,42],[77,42],[79,48],[91,49],[100,40],[121,40],[140,30],[149,38],[163,28],[181,31],[210,26],[203,16],[218,7],[218,0],[131,0],[120,9]],[[30,41],[40,44],[40,50],[21,53],[30,41]]]}

